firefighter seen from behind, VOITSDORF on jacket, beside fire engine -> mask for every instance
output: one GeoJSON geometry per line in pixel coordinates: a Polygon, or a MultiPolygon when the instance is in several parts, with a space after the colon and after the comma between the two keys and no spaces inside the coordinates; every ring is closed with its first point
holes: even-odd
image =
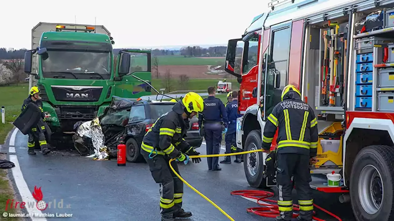
{"type": "Polygon", "coordinates": [[[290,221],[293,215],[292,190],[297,190],[299,220],[312,221],[313,199],[309,164],[316,163],[318,129],[313,109],[301,101],[294,85],[284,87],[282,101],[268,116],[263,133],[263,149],[269,151],[277,127],[277,188],[279,190],[279,221],[290,221]]]}

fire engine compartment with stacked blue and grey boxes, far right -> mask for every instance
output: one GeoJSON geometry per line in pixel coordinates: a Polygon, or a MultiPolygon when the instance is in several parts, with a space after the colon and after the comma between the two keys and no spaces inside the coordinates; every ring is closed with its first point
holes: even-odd
{"type": "MultiPolygon", "coordinates": [[[[353,36],[355,61],[351,81],[354,84],[350,89],[355,93],[350,97],[354,98],[354,106],[349,107],[350,110],[394,112],[394,10],[380,10],[378,18],[383,21],[375,23],[379,28],[369,30],[371,27],[366,27],[367,24],[362,27],[362,22],[359,22],[362,28],[356,28],[353,36]]],[[[362,21],[365,14],[357,13],[356,20],[362,21]]]]}

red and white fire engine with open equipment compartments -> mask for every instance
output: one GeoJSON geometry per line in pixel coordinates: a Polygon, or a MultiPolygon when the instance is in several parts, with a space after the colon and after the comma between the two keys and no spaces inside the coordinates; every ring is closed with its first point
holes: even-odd
{"type": "MultiPolygon", "coordinates": [[[[295,85],[318,118],[318,162],[310,173],[343,178],[338,187],[316,179],[310,186],[342,193],[340,202],[350,201],[359,221],[394,219],[393,7],[394,0],[273,0],[227,47],[225,70],[241,85],[238,147],[261,148],[267,116],[282,89],[295,85]]],[[[244,155],[252,187],[275,186],[263,179],[265,157],[244,155]]]]}

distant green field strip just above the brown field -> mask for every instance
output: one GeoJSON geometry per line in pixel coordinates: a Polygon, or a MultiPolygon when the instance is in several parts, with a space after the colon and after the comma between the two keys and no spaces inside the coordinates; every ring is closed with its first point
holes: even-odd
{"type": "MultiPolygon", "coordinates": [[[[179,55],[165,55],[157,56],[158,64],[160,65],[223,65],[224,58],[199,58],[199,57],[183,57],[179,55]]],[[[146,57],[138,56],[132,57],[133,66],[146,66],[146,57]]],[[[152,57],[153,64],[153,57],[152,57]]]]}

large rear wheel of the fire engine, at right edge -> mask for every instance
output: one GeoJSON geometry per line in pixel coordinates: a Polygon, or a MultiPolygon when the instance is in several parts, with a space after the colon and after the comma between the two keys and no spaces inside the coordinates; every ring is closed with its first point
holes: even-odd
{"type": "Polygon", "coordinates": [[[365,147],[353,163],[350,197],[358,221],[394,220],[394,148],[365,147]]]}

